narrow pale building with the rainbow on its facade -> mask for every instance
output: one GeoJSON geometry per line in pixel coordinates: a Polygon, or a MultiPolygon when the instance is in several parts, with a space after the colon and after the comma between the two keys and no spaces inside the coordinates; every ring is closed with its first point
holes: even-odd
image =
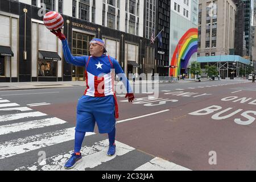
{"type": "Polygon", "coordinates": [[[171,1],[169,76],[189,75],[189,64],[197,60],[198,6],[198,0],[171,1]]]}

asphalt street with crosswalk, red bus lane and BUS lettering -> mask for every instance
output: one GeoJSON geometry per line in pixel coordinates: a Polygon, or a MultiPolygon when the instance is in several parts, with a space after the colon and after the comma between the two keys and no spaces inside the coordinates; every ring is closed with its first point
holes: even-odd
{"type": "MultiPolygon", "coordinates": [[[[256,85],[247,80],[159,84],[159,97],[118,94],[117,153],[86,133],[72,170],[256,170],[256,85]]],[[[84,87],[0,92],[0,170],[65,170],[84,87]]]]}

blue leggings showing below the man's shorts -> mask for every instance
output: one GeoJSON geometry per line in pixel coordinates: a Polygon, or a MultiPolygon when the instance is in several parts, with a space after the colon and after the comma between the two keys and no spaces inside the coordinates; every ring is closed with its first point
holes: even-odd
{"type": "MultiPolygon", "coordinates": [[[[109,145],[112,146],[115,143],[115,127],[108,135],[109,135],[109,145]]],[[[76,131],[75,152],[80,152],[82,147],[82,140],[84,140],[84,137],[85,137],[85,132],[76,131]]]]}

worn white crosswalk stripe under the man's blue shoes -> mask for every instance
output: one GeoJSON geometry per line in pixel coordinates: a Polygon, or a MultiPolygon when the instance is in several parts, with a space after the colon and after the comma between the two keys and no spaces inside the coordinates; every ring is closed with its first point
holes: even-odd
{"type": "MultiPolygon", "coordinates": [[[[102,163],[108,162],[109,160],[114,159],[116,156],[125,155],[130,151],[135,150],[135,148],[127,146],[121,142],[115,141],[117,145],[116,153],[114,156],[106,155],[109,146],[109,140],[102,140],[100,142],[94,143],[93,146],[85,146],[81,149],[82,154],[82,162],[78,164],[75,170],[84,171],[86,168],[94,168],[99,166],[102,163]]],[[[39,163],[34,163],[29,166],[20,167],[15,169],[16,171],[19,170],[43,170],[43,171],[59,171],[65,170],[64,164],[65,162],[71,157],[72,151],[69,151],[64,154],[52,156],[51,158],[47,158],[39,163]]]]}

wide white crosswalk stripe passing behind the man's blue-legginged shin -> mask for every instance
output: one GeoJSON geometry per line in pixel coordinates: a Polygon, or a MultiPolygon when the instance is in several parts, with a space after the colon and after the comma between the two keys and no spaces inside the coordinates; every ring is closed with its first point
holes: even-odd
{"type": "MultiPolygon", "coordinates": [[[[95,133],[86,133],[93,135],[95,133]]],[[[39,148],[52,146],[67,142],[75,138],[75,127],[58,130],[50,133],[32,135],[26,138],[19,138],[0,143],[0,159],[10,158],[11,156],[23,154],[25,152],[37,150],[39,148]]]]}

